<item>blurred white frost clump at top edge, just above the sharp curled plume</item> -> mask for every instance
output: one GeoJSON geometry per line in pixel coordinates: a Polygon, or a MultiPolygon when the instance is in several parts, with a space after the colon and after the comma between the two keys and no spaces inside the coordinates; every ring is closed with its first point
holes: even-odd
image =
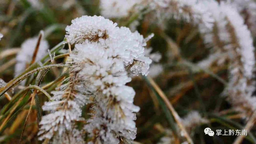
{"type": "Polygon", "coordinates": [[[142,0],[101,0],[101,15],[106,18],[127,17],[134,5],[142,0]]]}

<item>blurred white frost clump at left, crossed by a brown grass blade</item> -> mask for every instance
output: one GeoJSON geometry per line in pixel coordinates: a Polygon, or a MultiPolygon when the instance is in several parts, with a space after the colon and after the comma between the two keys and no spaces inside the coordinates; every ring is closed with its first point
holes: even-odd
{"type": "MultiPolygon", "coordinates": [[[[16,56],[17,63],[15,65],[15,76],[22,73],[26,67],[30,65],[36,48],[37,40],[38,38],[34,37],[29,38],[22,43],[21,50],[16,56]]],[[[36,61],[42,59],[45,54],[47,54],[47,49],[49,49],[49,44],[46,40],[42,39],[36,56],[36,61]]]]}

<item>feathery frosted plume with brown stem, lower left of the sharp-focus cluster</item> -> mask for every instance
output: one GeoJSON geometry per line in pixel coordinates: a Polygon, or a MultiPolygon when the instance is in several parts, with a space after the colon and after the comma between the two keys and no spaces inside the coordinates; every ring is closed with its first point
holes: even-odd
{"type": "MultiPolygon", "coordinates": [[[[51,111],[50,114],[42,117],[38,132],[39,140],[67,139],[73,137],[72,141],[79,142],[82,139],[81,132],[76,129],[75,122],[83,120],[81,117],[81,107],[88,103],[88,92],[81,89],[81,81],[77,78],[76,69],[72,70],[66,84],[52,91],[54,95],[52,101],[45,102],[42,107],[45,111],[51,111]],[[74,135],[77,134],[77,135],[74,135]]],[[[67,143],[72,143],[70,140],[67,143]]]]}

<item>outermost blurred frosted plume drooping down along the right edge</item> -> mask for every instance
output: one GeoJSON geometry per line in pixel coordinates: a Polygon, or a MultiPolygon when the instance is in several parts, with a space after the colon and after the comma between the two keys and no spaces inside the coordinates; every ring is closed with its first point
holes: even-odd
{"type": "Polygon", "coordinates": [[[244,25],[243,18],[234,11],[232,6],[221,3],[220,7],[223,12],[226,12],[227,29],[230,35],[230,45],[227,46],[231,54],[228,100],[236,110],[250,117],[256,108],[256,98],[252,96],[255,89],[253,39],[248,27],[244,25]]]}

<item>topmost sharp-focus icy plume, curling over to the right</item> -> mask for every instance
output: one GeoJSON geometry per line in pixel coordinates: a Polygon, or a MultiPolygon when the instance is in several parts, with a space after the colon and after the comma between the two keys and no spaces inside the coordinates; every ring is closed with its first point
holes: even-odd
{"type": "Polygon", "coordinates": [[[131,75],[147,75],[150,58],[144,56],[146,40],[138,32],[132,33],[127,27],[116,27],[116,23],[102,16],[82,16],[72,20],[67,26],[70,43],[83,43],[86,40],[100,43],[108,48],[113,57],[123,59],[124,65],[131,75]]]}

